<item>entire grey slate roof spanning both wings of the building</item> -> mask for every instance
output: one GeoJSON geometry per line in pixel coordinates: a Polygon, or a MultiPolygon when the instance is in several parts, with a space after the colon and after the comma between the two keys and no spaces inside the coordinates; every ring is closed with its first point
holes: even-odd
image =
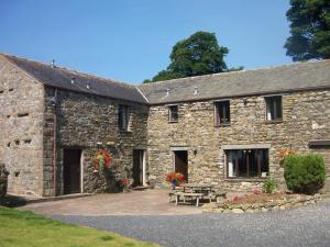
{"type": "Polygon", "coordinates": [[[0,55],[44,85],[143,104],[167,104],[330,88],[330,60],[188,77],[135,87],[66,68],[53,68],[51,65],[25,58],[0,55]],[[75,78],[75,83],[70,82],[72,78],[75,78]],[[194,93],[196,90],[197,93],[194,93]]]}

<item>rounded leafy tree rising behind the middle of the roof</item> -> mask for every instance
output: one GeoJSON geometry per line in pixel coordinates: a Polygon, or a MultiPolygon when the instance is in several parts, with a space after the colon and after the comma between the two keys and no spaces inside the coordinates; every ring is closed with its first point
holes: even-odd
{"type": "MultiPolygon", "coordinates": [[[[144,82],[228,71],[223,59],[228,53],[227,47],[219,46],[213,33],[197,32],[176,43],[170,53],[170,64],[167,69],[144,82]]],[[[239,69],[242,67],[233,68],[233,70],[239,69]]]]}

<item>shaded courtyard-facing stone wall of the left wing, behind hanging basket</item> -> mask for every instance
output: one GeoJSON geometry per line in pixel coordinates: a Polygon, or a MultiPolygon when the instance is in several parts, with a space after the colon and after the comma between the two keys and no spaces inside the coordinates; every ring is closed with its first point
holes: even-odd
{"type": "Polygon", "coordinates": [[[133,149],[146,149],[146,124],[148,108],[121,100],[91,94],[46,88],[45,98],[45,195],[54,192],[54,117],[56,115],[56,194],[63,193],[63,149],[82,150],[84,192],[116,192],[116,182],[132,177],[133,149]],[[56,99],[57,98],[57,99],[56,99]],[[56,101],[56,103],[54,103],[56,101]],[[130,131],[123,132],[118,125],[119,104],[131,108],[130,131]],[[56,114],[55,114],[56,113],[56,114]],[[106,148],[113,156],[110,172],[95,173],[91,157],[99,148],[106,148]]]}

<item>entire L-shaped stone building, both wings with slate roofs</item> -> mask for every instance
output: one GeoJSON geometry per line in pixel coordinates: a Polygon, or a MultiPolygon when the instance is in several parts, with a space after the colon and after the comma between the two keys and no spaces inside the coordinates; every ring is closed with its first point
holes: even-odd
{"type": "Polygon", "coordinates": [[[283,181],[282,148],[322,154],[330,173],[330,60],[134,87],[2,54],[0,105],[15,193],[116,191],[172,170],[246,191],[283,181]],[[99,148],[111,172],[94,172],[99,148]]]}

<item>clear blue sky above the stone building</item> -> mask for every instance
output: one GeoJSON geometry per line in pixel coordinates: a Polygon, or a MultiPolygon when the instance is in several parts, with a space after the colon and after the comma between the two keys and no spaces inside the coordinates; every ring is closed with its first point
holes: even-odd
{"type": "Polygon", "coordinates": [[[229,67],[292,63],[288,0],[0,0],[0,52],[140,83],[169,64],[172,47],[216,33],[229,67]]]}

